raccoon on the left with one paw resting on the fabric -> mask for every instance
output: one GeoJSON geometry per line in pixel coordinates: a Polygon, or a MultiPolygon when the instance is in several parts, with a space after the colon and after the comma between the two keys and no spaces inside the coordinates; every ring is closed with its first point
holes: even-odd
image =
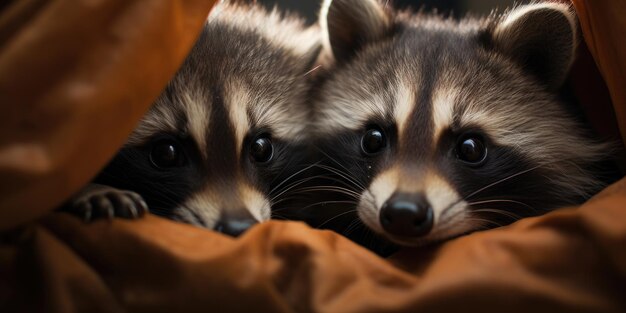
{"type": "Polygon", "coordinates": [[[246,1],[210,13],[175,77],[69,204],[86,220],[146,211],[239,235],[271,216],[297,164],[319,27],[246,1]]]}

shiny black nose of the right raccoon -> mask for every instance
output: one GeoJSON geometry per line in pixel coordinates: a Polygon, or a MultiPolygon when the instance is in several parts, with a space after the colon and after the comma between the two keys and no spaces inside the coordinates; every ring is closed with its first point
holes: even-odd
{"type": "Polygon", "coordinates": [[[423,236],[433,228],[433,209],[422,194],[395,193],[380,210],[380,224],[392,235],[423,236]]]}

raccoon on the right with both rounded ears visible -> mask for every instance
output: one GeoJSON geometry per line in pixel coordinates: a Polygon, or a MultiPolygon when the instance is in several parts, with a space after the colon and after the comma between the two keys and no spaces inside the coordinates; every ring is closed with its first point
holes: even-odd
{"type": "Polygon", "coordinates": [[[316,141],[360,220],[404,246],[584,201],[609,145],[559,96],[577,47],[556,2],[460,20],[325,1],[335,70],[315,101],[316,141]]]}

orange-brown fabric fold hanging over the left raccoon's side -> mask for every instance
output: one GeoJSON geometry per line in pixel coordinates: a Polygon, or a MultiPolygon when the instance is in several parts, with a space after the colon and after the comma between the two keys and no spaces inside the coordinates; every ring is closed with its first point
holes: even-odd
{"type": "Polygon", "coordinates": [[[0,230],[50,211],[107,162],[214,2],[19,0],[4,8],[0,230]]]}

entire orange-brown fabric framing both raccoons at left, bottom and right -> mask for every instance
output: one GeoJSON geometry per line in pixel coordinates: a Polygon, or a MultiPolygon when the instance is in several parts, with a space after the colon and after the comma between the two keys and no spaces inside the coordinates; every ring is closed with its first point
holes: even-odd
{"type": "MultiPolygon", "coordinates": [[[[123,141],[210,2],[20,0],[0,15],[0,312],[626,312],[626,180],[389,260],[294,222],[235,240],[152,216],[40,217],[123,141]]],[[[626,8],[575,5],[624,130],[626,8]]]]}

